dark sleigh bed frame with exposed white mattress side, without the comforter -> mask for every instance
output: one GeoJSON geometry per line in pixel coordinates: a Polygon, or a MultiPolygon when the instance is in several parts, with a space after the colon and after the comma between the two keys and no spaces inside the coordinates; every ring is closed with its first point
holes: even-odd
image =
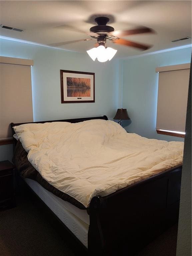
{"type": "MultiPolygon", "coordinates": [[[[108,118],[102,116],[34,123],[80,123],[88,120],[107,121],[108,118]]],[[[19,125],[21,123],[11,123],[12,128],[19,125]]],[[[12,131],[14,135],[14,129],[12,131]]],[[[14,144],[17,151],[15,138],[14,144]]],[[[23,170],[25,166],[22,166],[23,170]]],[[[85,252],[90,255],[132,255],[177,222],[181,171],[182,165],[179,164],[107,195],[95,195],[91,197],[88,207],[70,201],[72,199],[66,195],[64,201],[63,195],[46,189],[45,181],[39,183],[27,177],[24,177],[24,181],[80,241],[85,252]]]]}

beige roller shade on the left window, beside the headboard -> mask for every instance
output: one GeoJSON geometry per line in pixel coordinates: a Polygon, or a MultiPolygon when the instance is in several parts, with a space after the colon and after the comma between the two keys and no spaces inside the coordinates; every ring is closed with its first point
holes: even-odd
{"type": "Polygon", "coordinates": [[[31,65],[32,60],[0,57],[0,145],[12,139],[11,122],[33,122],[31,65]]]}

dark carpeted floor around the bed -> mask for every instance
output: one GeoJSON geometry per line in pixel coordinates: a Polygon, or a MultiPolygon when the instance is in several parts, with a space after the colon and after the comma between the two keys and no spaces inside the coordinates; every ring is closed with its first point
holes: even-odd
{"type": "MultiPolygon", "coordinates": [[[[17,207],[0,211],[0,256],[86,255],[67,232],[58,232],[59,223],[48,215],[33,195],[19,195],[17,207]]],[[[175,256],[176,242],[177,225],[136,256],[175,256]]]]}

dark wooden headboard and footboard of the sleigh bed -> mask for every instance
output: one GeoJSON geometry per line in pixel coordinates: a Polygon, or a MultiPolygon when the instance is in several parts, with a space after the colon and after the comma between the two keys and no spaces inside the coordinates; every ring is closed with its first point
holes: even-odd
{"type": "MultiPolygon", "coordinates": [[[[108,120],[107,116],[102,116],[56,121],[78,123],[92,119],[108,120]]],[[[21,124],[24,123],[11,123],[11,127],[21,124]]],[[[15,139],[14,143],[17,143],[15,139]]],[[[181,171],[182,166],[171,168],[108,196],[93,197],[87,210],[90,220],[88,249],[82,244],[85,254],[134,255],[176,223],[181,171]]]]}

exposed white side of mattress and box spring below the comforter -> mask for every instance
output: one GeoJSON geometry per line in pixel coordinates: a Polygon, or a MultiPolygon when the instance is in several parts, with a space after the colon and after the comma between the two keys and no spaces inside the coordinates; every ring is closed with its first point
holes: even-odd
{"type": "Polygon", "coordinates": [[[81,243],[88,248],[89,215],[87,211],[81,210],[55,196],[34,180],[27,178],[24,180],[81,243]]]}

